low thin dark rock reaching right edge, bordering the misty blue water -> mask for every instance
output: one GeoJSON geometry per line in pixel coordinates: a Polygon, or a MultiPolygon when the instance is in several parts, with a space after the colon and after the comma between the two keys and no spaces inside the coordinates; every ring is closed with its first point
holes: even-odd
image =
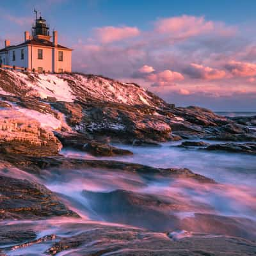
{"type": "Polygon", "coordinates": [[[212,144],[205,148],[206,150],[224,150],[227,152],[256,154],[256,143],[223,143],[212,144]]]}

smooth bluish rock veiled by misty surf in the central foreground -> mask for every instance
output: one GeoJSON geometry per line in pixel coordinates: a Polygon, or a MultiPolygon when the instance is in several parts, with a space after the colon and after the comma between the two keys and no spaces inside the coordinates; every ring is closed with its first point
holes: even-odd
{"type": "Polygon", "coordinates": [[[83,196],[93,211],[104,220],[155,231],[179,228],[179,218],[174,214],[176,211],[209,209],[204,204],[184,203],[175,196],[134,193],[121,189],[106,193],[83,191],[83,196]]]}

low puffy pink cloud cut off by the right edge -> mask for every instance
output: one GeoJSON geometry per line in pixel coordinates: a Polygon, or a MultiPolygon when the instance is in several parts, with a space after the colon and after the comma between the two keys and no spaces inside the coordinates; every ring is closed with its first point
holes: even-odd
{"type": "Polygon", "coordinates": [[[230,61],[226,66],[233,76],[256,76],[256,64],[250,62],[230,61]]]}

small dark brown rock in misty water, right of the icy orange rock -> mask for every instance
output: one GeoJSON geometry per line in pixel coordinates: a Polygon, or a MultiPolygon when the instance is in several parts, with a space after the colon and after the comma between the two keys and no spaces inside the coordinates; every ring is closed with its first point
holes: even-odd
{"type": "Polygon", "coordinates": [[[130,150],[112,147],[108,144],[91,141],[83,146],[83,151],[86,151],[93,156],[124,156],[132,155],[130,150]]]}

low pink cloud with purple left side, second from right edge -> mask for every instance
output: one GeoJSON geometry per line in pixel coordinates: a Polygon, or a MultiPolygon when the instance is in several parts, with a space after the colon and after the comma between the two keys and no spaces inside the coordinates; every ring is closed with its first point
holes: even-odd
{"type": "Polygon", "coordinates": [[[193,78],[204,80],[221,79],[226,76],[226,72],[224,70],[205,67],[196,63],[191,63],[189,68],[186,68],[186,73],[193,78]]]}

